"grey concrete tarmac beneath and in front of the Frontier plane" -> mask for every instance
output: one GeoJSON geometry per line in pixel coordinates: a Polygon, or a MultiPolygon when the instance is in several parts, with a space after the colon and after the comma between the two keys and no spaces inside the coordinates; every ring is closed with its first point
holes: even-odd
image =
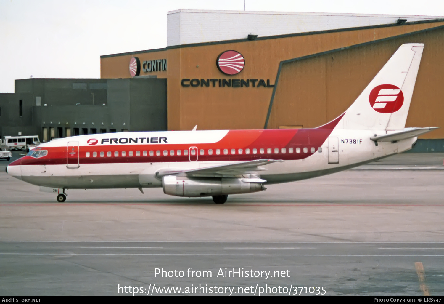
{"type": "Polygon", "coordinates": [[[0,173],[0,294],[442,295],[443,160],[400,154],[223,205],[162,189],[71,190],[59,204],[0,173]]]}

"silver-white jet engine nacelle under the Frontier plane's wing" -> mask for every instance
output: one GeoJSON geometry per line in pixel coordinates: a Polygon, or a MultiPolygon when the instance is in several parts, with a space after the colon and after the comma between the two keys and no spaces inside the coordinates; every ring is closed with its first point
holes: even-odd
{"type": "MultiPolygon", "coordinates": [[[[262,180],[265,182],[265,180],[262,180]]],[[[162,178],[163,193],[173,196],[199,197],[251,193],[265,190],[258,179],[189,178],[167,175],[162,178]],[[254,182],[249,182],[252,180],[254,182]]]]}

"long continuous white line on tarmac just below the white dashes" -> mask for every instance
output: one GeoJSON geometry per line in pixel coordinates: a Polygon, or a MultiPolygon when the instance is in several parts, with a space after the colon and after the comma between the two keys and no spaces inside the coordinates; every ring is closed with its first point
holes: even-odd
{"type": "Polygon", "coordinates": [[[420,254],[0,253],[4,256],[428,256],[420,254]]]}

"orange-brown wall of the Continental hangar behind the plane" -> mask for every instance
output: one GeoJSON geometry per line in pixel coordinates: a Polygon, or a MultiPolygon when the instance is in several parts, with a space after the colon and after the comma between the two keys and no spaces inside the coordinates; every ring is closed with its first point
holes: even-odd
{"type": "MultiPolygon", "coordinates": [[[[218,84],[216,84],[216,87],[212,87],[212,85],[210,85],[210,87],[182,87],[180,84],[181,80],[206,80],[213,78],[264,79],[266,81],[269,79],[270,84],[274,84],[281,61],[441,25],[444,25],[444,22],[419,22],[398,26],[355,28],[352,30],[345,29],[264,37],[253,41],[234,40],[228,42],[181,45],[155,51],[102,56],[101,78],[131,77],[128,71],[128,63],[133,56],[139,57],[141,62],[143,60],[166,58],[167,71],[151,73],[143,73],[141,71],[140,75],[153,74],[157,75],[157,77],[166,77],[168,79],[167,108],[169,130],[190,130],[195,124],[197,124],[198,129],[201,130],[264,128],[274,88],[253,88],[251,85],[249,88],[218,87],[218,84]],[[216,67],[216,58],[218,55],[230,49],[240,52],[246,62],[242,72],[234,76],[222,74],[216,67]]],[[[439,42],[436,43],[439,44],[439,42]]],[[[345,79],[348,79],[350,85],[353,86],[350,92],[347,90],[342,92],[345,94],[345,97],[341,99],[340,102],[335,101],[337,97],[325,99],[325,96],[321,94],[322,92],[326,92],[326,88],[332,90],[330,86],[335,85],[334,81],[339,81],[334,79],[333,74],[330,73],[328,75],[333,77],[332,80],[325,82],[325,75],[327,75],[325,74],[326,59],[318,57],[305,60],[305,63],[299,60],[298,65],[293,64],[293,68],[290,67],[291,64],[288,64],[288,68],[283,64],[274,96],[274,104],[270,108],[271,111],[267,127],[278,128],[282,125],[316,126],[325,123],[330,116],[335,115],[333,113],[343,111],[344,108],[347,108],[345,104],[353,102],[346,102],[345,100],[350,100],[352,98],[351,96],[356,94],[355,91],[358,90],[358,86],[364,85],[365,87],[369,82],[367,78],[371,80],[379,68],[381,68],[390,57],[392,52],[391,48],[387,51],[387,49],[379,50],[377,47],[375,49],[375,47],[376,45],[362,47],[363,49],[369,48],[369,51],[366,51],[369,53],[369,56],[381,54],[380,60],[375,60],[373,66],[365,65],[367,59],[365,59],[364,62],[356,59],[348,63],[347,58],[338,57],[338,60],[341,58],[342,61],[341,64],[340,61],[337,61],[335,71],[337,70],[338,72],[335,73],[337,73],[337,75],[344,74],[347,76],[348,78],[345,79]],[[381,61],[384,61],[382,65],[381,61]],[[365,69],[364,75],[358,77],[359,79],[355,79],[356,74],[353,74],[355,75],[353,77],[348,76],[349,69],[354,71],[353,64],[356,64],[356,62],[361,64],[361,69],[365,69]],[[301,73],[301,71],[297,70],[296,65],[297,67],[303,68],[304,72],[301,73]],[[344,67],[344,69],[340,72],[342,67],[344,67]],[[301,76],[304,73],[307,74],[301,76]],[[370,76],[372,73],[373,76],[370,76]],[[299,82],[295,84],[294,79],[298,79],[299,82]],[[293,88],[289,88],[287,83],[293,86],[293,88]],[[296,90],[296,88],[298,89],[296,90]],[[301,92],[303,92],[303,96],[301,92]],[[292,96],[296,96],[299,102],[296,104],[292,102],[292,96]],[[302,103],[302,100],[306,100],[306,102],[302,103]],[[323,104],[321,105],[322,102],[323,104]],[[331,104],[329,104],[330,102],[331,104]],[[314,106],[314,104],[316,104],[316,106],[314,106]],[[335,107],[339,107],[341,110],[331,109],[335,107]],[[294,119],[292,116],[297,118],[294,119]],[[303,121],[297,120],[298,118],[301,118],[303,121]]],[[[423,57],[422,65],[424,65],[424,58],[425,56],[423,57]]],[[[355,69],[359,71],[359,68],[355,69]]],[[[345,80],[343,82],[345,82],[345,80]]],[[[341,82],[341,85],[343,82],[341,82]]],[[[361,88],[359,90],[361,90],[361,88]]],[[[340,91],[337,90],[335,92],[340,91]]],[[[415,91],[415,94],[416,93],[415,91]]],[[[331,94],[333,94],[333,92],[331,94]]],[[[412,101],[410,116],[412,116],[413,102],[414,101],[412,101]]],[[[441,111],[441,113],[443,112],[441,111]]],[[[410,123],[411,119],[413,118],[409,117],[408,123],[410,123]]],[[[418,126],[428,125],[430,125],[430,123],[418,126]]],[[[441,136],[441,138],[444,138],[444,136],[441,136]]]]}

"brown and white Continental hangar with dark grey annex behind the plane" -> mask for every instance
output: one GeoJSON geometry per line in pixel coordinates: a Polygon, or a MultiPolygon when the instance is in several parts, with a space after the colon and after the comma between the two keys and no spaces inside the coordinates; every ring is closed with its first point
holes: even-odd
{"type": "MultiPolygon", "coordinates": [[[[131,121],[135,127],[125,128],[123,120],[115,120],[108,110],[103,114],[110,117],[103,121],[104,126],[108,124],[104,128],[113,132],[140,128],[190,130],[196,124],[201,130],[317,127],[344,112],[404,43],[425,44],[406,126],[443,127],[443,17],[168,12],[166,48],[100,57],[101,80],[108,85],[112,80],[140,80],[148,85],[162,79],[152,91],[159,98],[151,99],[147,108],[154,112],[165,108],[166,126],[136,124],[135,120],[143,118],[134,116],[131,121]],[[158,91],[166,93],[156,95],[158,91]]],[[[109,86],[107,90],[108,99],[116,96],[109,86]]],[[[22,94],[17,91],[17,83],[15,94],[22,94]]],[[[143,104],[143,99],[140,102],[143,104]]],[[[73,99],[69,106],[76,108],[75,103],[73,99]]],[[[102,109],[96,106],[87,112],[97,116],[102,109]]],[[[160,116],[165,115],[159,111],[160,116]]],[[[40,132],[48,130],[44,129],[49,127],[48,119],[58,123],[52,119],[55,112],[48,115],[36,124],[40,124],[40,132]]],[[[75,128],[73,123],[78,124],[68,121],[68,127],[75,128]]],[[[9,134],[2,131],[2,135],[9,134]]],[[[420,146],[425,151],[444,151],[444,128],[422,138],[420,146]]]]}

